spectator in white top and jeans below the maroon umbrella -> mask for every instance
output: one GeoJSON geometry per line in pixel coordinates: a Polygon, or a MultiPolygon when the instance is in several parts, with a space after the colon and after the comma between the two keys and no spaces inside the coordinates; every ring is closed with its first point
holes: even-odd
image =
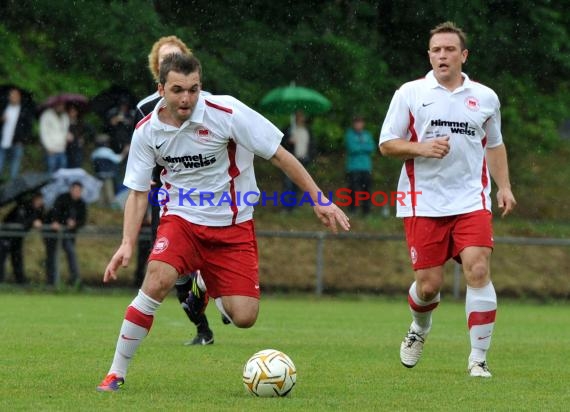
{"type": "Polygon", "coordinates": [[[40,115],[40,141],[46,151],[47,171],[67,167],[65,149],[69,140],[69,116],[63,101],[56,102],[40,115]]]}

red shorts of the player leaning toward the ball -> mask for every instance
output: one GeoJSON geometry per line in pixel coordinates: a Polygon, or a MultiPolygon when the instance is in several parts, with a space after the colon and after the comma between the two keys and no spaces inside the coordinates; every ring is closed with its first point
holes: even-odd
{"type": "Polygon", "coordinates": [[[164,216],[148,260],[168,263],[180,276],[200,269],[213,298],[259,298],[253,220],[216,227],[190,223],[175,215],[164,216]]]}

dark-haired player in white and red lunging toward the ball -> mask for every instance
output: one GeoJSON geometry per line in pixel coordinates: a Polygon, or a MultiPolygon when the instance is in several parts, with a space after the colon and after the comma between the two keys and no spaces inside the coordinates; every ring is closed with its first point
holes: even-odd
{"type": "Polygon", "coordinates": [[[131,259],[155,163],[164,166],[163,207],[144,282],[127,308],[113,363],[99,391],[123,385],[155,312],[185,273],[201,269],[208,293],[234,325],[249,328],[255,323],[260,291],[252,204],[257,198],[239,197],[259,194],[254,154],[270,160],[304,190],[317,217],[333,232],[337,225],[350,228],[344,212],[281,147],[279,129],[231,96],[201,95],[201,78],[194,56],[167,56],[158,86],[163,100],[139,123],[132,139],[124,180],[130,192],[123,240],[105,269],[104,282],[116,279],[119,267],[131,259]]]}

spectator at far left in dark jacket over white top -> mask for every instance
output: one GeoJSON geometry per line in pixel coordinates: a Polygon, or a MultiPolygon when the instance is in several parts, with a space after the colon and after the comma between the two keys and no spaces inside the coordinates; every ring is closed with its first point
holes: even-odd
{"type": "Polygon", "coordinates": [[[24,144],[32,135],[34,113],[29,105],[23,104],[22,92],[16,87],[9,90],[8,99],[0,107],[0,113],[0,177],[4,173],[4,163],[9,159],[9,176],[13,179],[20,172],[24,144]]]}

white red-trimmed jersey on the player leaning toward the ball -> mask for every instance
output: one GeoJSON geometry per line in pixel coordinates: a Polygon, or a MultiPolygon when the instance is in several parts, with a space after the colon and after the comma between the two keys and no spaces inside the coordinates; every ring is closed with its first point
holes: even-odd
{"type": "Polygon", "coordinates": [[[164,166],[163,186],[154,201],[160,202],[161,215],[177,215],[205,226],[250,220],[260,195],[254,154],[270,159],[283,133],[231,96],[200,95],[180,128],[160,121],[158,112],[163,109],[161,100],[137,125],[125,186],[150,190],[152,169],[158,163],[164,166]]]}

